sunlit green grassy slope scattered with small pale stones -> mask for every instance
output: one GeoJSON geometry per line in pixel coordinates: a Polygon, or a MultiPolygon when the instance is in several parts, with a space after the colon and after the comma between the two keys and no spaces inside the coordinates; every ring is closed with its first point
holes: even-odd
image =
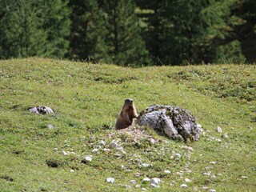
{"type": "Polygon", "coordinates": [[[253,191],[255,124],[256,66],[133,69],[42,58],[0,61],[0,190],[122,191],[129,185],[132,191],[253,191]],[[156,143],[120,134],[114,123],[126,98],[138,111],[154,103],[181,106],[204,134],[187,144],[146,128],[156,143]],[[26,110],[39,105],[55,114],[26,110]],[[109,148],[113,139],[125,152],[92,152],[101,141],[109,148]],[[93,160],[83,164],[86,155],[93,160]],[[115,182],[106,183],[109,177],[115,182]],[[142,183],[146,177],[161,178],[160,188],[142,183]]]}

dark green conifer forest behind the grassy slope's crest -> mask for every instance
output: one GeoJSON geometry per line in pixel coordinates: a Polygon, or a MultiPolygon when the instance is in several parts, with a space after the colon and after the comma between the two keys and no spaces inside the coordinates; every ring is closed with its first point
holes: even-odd
{"type": "Polygon", "coordinates": [[[0,0],[0,59],[256,62],[255,0],[0,0]]]}

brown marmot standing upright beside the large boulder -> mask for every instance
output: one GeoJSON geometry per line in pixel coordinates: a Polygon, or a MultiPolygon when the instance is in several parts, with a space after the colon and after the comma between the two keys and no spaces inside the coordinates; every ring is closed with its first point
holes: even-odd
{"type": "Polygon", "coordinates": [[[125,129],[131,126],[134,122],[134,118],[138,118],[134,101],[130,98],[126,99],[124,106],[122,107],[121,113],[118,116],[118,120],[115,124],[116,130],[125,129]]]}

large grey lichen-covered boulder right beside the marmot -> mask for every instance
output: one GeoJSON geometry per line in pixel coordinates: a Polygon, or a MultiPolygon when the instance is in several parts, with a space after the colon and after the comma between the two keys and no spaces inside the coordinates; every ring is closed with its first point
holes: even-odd
{"type": "Polygon", "coordinates": [[[139,115],[138,125],[148,126],[171,139],[184,139],[185,142],[199,138],[195,118],[178,106],[149,106],[139,115]]]}

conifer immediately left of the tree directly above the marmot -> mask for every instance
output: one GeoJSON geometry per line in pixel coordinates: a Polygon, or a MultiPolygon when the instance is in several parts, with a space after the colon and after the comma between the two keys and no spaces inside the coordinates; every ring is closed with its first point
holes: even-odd
{"type": "Polygon", "coordinates": [[[70,58],[98,62],[108,59],[104,13],[95,0],[70,0],[70,58]]]}

